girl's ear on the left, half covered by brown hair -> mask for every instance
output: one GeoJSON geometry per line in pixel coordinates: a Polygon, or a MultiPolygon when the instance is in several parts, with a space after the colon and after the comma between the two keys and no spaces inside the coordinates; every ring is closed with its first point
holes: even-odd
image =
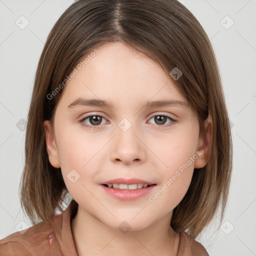
{"type": "Polygon", "coordinates": [[[46,142],[49,162],[53,167],[59,168],[60,163],[58,159],[58,151],[55,144],[53,128],[49,120],[43,121],[43,128],[45,132],[45,142],[46,142]]]}

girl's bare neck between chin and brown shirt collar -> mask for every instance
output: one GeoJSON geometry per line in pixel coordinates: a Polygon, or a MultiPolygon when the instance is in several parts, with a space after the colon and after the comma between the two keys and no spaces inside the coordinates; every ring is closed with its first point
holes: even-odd
{"type": "Polygon", "coordinates": [[[120,231],[82,210],[71,220],[79,256],[87,255],[177,255],[179,234],[169,225],[171,214],[141,230],[120,231]]]}

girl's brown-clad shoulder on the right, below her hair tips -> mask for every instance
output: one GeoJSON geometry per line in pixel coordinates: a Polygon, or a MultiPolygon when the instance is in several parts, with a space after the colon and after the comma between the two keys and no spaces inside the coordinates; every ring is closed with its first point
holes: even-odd
{"type": "Polygon", "coordinates": [[[180,233],[180,252],[180,255],[209,256],[204,246],[184,231],[180,233]]]}

